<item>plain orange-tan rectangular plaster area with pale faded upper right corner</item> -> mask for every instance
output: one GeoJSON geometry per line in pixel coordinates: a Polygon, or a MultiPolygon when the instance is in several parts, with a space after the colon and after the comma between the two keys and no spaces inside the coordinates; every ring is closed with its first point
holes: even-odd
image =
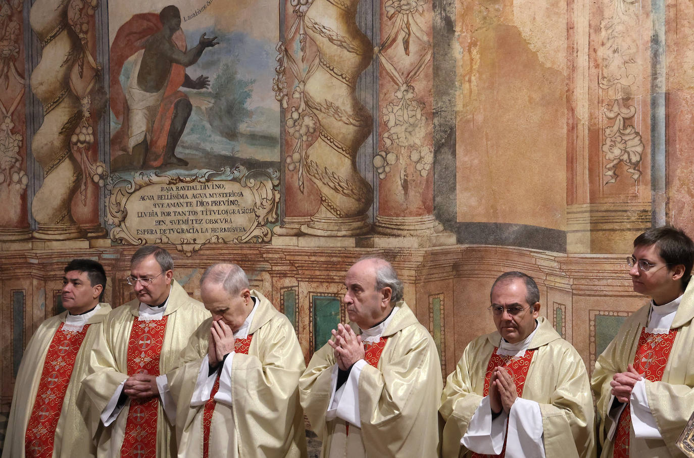
{"type": "MultiPolygon", "coordinates": [[[[565,230],[566,65],[550,67],[512,12],[484,1],[457,16],[457,219],[565,230]]],[[[566,24],[555,39],[566,46],[566,24]]]]}

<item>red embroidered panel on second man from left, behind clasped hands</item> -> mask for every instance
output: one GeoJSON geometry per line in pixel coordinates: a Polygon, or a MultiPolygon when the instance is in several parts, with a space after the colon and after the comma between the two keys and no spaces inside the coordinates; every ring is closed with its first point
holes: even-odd
{"type": "MultiPolygon", "coordinates": [[[[135,316],[128,339],[128,375],[160,375],[159,359],[164,345],[167,319],[139,320],[135,316]]],[[[121,458],[155,458],[157,456],[157,418],[159,398],[130,399],[121,458]]]]}

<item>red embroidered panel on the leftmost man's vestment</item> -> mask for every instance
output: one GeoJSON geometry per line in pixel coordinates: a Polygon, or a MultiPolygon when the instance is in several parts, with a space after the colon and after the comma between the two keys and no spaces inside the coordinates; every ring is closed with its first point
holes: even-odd
{"type": "Polygon", "coordinates": [[[80,332],[77,332],[63,330],[64,325],[65,323],[60,323],[46,353],[39,387],[36,391],[36,400],[31,409],[31,416],[26,425],[26,436],[24,436],[24,453],[27,458],[53,456],[53,440],[56,436],[62,401],[65,399],[77,353],[90,326],[85,325],[80,332]]]}

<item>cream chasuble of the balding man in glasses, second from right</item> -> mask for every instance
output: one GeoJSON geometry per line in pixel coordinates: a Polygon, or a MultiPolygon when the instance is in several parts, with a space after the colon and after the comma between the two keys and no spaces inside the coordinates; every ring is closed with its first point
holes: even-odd
{"type": "MultiPolygon", "coordinates": [[[[528,350],[536,351],[527,371],[523,399],[539,405],[545,456],[594,457],[593,398],[583,359],[549,321],[543,317],[537,321],[528,346],[528,350]]],[[[439,408],[446,422],[441,442],[443,458],[471,455],[460,439],[484,398],[487,364],[500,341],[498,332],[477,337],[448,375],[439,408]]]]}

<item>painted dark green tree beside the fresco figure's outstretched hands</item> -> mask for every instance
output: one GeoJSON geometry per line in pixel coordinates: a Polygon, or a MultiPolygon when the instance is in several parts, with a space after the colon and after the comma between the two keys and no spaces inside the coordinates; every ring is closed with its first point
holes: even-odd
{"type": "Polygon", "coordinates": [[[210,126],[219,135],[236,140],[239,136],[239,126],[250,119],[253,112],[246,103],[253,95],[254,79],[245,80],[239,77],[236,65],[226,62],[221,66],[217,78],[212,83],[212,106],[207,109],[210,126]]]}

